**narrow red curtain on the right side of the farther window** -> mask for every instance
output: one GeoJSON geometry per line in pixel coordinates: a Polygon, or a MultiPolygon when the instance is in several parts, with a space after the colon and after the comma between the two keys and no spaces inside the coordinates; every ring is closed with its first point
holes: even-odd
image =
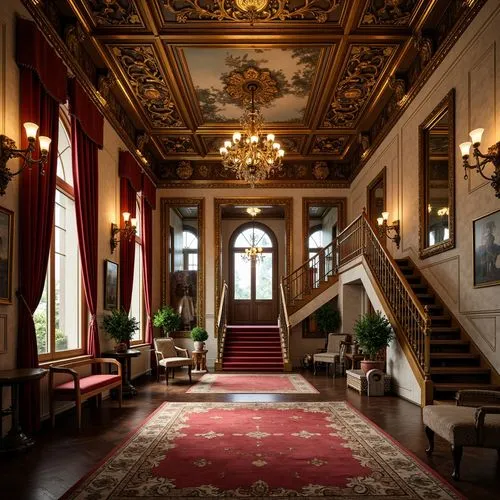
{"type": "MultiPolygon", "coordinates": [[[[153,348],[153,325],[151,323],[151,299],[153,293],[153,210],[156,207],[156,188],[149,177],[142,175],[141,228],[142,228],[142,274],[144,306],[146,308],[145,341],[153,348]]],[[[156,356],[151,352],[151,367],[156,366],[156,356]]]]}

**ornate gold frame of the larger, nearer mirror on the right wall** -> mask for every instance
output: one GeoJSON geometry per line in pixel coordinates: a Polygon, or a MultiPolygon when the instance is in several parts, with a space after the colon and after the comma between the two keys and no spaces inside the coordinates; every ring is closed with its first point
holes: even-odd
{"type": "Polygon", "coordinates": [[[432,110],[429,116],[418,127],[419,132],[419,247],[420,258],[426,259],[433,255],[455,248],[455,89],[451,89],[441,102],[432,110]],[[448,197],[449,197],[449,231],[450,237],[432,246],[426,246],[427,235],[427,189],[425,171],[427,166],[427,130],[448,111],[448,197]]]}

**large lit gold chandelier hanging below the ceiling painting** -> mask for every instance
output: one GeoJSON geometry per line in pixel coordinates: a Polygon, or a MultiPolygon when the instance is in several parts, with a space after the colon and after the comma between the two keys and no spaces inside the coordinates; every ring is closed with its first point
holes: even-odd
{"type": "Polygon", "coordinates": [[[265,140],[260,137],[264,120],[261,112],[255,109],[257,85],[249,83],[247,88],[251,93],[251,101],[250,110],[246,110],[241,119],[243,135],[235,132],[233,141],[225,141],[219,152],[222,165],[253,188],[256,182],[281,170],[285,151],[278,142],[274,142],[274,134],[267,134],[265,140]]]}

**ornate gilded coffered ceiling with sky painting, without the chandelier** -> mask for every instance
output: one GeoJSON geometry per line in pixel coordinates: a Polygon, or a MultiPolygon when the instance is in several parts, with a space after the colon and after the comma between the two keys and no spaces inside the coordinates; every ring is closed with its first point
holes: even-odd
{"type": "Polygon", "coordinates": [[[251,81],[264,131],[286,151],[268,184],[333,187],[349,184],[458,21],[482,3],[56,0],[40,9],[160,184],[241,183],[218,150],[238,129],[251,81]]]}

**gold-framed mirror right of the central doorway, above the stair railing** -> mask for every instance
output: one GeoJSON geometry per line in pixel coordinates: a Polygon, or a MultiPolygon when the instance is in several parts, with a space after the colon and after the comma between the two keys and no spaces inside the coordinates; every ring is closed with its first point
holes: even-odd
{"type": "Polygon", "coordinates": [[[346,198],[302,198],[302,262],[331,243],[345,227],[346,198]]]}

